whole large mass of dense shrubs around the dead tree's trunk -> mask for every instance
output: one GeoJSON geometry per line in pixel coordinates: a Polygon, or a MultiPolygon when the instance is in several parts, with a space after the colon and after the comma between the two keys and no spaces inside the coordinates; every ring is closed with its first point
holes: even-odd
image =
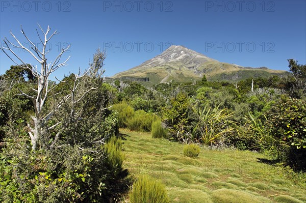
{"type": "MultiPolygon", "coordinates": [[[[24,117],[26,103],[3,108],[14,117],[4,118],[1,202],[109,202],[122,191],[126,171],[122,170],[121,141],[110,138],[118,135],[118,113],[109,108],[116,90],[96,75],[104,60],[100,54],[94,55],[85,75],[71,74],[50,88],[43,110],[35,113],[37,118],[44,117],[36,131],[36,148],[32,148],[34,136],[29,133],[33,121],[16,119],[18,113],[24,117]]],[[[28,88],[24,92],[27,90],[31,91],[28,88]]],[[[0,100],[14,101],[13,91],[1,94],[0,100]]],[[[33,120],[38,121],[35,117],[33,120]]]]}

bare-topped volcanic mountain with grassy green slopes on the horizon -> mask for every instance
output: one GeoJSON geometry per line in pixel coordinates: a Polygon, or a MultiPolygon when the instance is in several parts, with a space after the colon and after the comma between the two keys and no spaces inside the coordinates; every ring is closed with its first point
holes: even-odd
{"type": "Polygon", "coordinates": [[[248,77],[267,78],[270,75],[284,76],[290,73],[267,67],[252,68],[223,63],[184,46],[171,45],[152,59],[111,78],[148,78],[151,83],[161,83],[200,80],[203,75],[209,80],[239,81],[248,77]]]}

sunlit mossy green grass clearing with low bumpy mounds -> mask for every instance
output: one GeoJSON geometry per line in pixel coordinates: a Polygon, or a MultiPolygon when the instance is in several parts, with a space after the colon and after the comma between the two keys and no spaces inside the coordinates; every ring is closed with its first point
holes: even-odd
{"type": "Polygon", "coordinates": [[[184,157],[183,144],[152,139],[149,133],[121,133],[126,138],[123,167],[134,177],[145,173],[161,180],[172,202],[306,202],[305,179],[263,163],[265,155],[201,149],[192,159],[184,157]]]}

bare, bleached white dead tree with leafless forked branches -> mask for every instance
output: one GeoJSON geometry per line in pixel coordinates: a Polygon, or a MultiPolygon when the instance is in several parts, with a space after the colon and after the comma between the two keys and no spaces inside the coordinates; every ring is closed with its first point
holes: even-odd
{"type": "MultiPolygon", "coordinates": [[[[31,142],[32,142],[32,149],[33,151],[35,151],[38,141],[42,135],[42,133],[44,132],[43,128],[44,125],[46,124],[46,121],[48,121],[48,119],[50,118],[50,115],[52,115],[52,112],[47,113],[47,115],[44,115],[43,113],[43,108],[44,108],[44,104],[46,99],[48,98],[48,94],[50,93],[50,91],[52,91],[55,85],[49,86],[49,82],[48,82],[48,78],[50,76],[51,73],[55,72],[56,70],[58,70],[60,67],[62,66],[66,66],[67,61],[69,60],[70,56],[62,63],[60,63],[61,61],[61,57],[63,55],[64,52],[66,52],[69,48],[70,45],[67,46],[66,48],[62,48],[60,53],[58,54],[58,56],[55,58],[54,61],[47,61],[47,57],[46,54],[49,53],[50,49],[47,50],[47,43],[57,34],[59,34],[57,31],[55,31],[54,33],[50,34],[50,27],[47,27],[46,32],[41,28],[41,26],[38,24],[41,32],[42,32],[42,37],[41,35],[38,33],[38,29],[36,29],[36,33],[39,37],[40,42],[42,43],[42,50],[39,49],[29,38],[28,36],[24,33],[23,28],[21,26],[21,33],[23,34],[23,36],[25,37],[25,39],[27,39],[27,41],[31,44],[31,48],[28,49],[27,47],[24,47],[22,45],[22,43],[20,43],[20,41],[13,35],[12,32],[10,32],[10,34],[12,35],[12,37],[15,39],[15,41],[17,42],[16,44],[10,42],[7,38],[4,39],[4,43],[6,45],[6,47],[1,46],[1,49],[4,51],[4,53],[9,57],[9,59],[11,59],[16,65],[21,66],[24,69],[28,69],[32,72],[32,74],[37,78],[37,89],[34,89],[34,91],[36,92],[35,95],[31,96],[28,94],[23,93],[21,90],[20,93],[21,95],[30,98],[33,101],[34,104],[34,109],[35,109],[35,116],[32,116],[32,119],[34,121],[34,127],[30,126],[30,124],[28,124],[29,128],[30,128],[30,137],[31,137],[31,142]],[[22,49],[26,52],[28,52],[40,65],[40,69],[37,68],[37,66],[32,65],[31,67],[27,66],[27,63],[24,62],[24,60],[22,60],[18,54],[16,52],[14,52],[12,50],[12,47],[16,47],[18,49],[22,49]],[[17,63],[18,62],[18,63],[17,63]],[[20,65],[21,63],[21,65],[20,65]]],[[[60,107],[61,104],[59,103],[57,107],[60,107]]],[[[58,124],[56,124],[55,126],[57,126],[58,124]]],[[[50,128],[54,128],[55,126],[52,126],[50,128]]]]}

